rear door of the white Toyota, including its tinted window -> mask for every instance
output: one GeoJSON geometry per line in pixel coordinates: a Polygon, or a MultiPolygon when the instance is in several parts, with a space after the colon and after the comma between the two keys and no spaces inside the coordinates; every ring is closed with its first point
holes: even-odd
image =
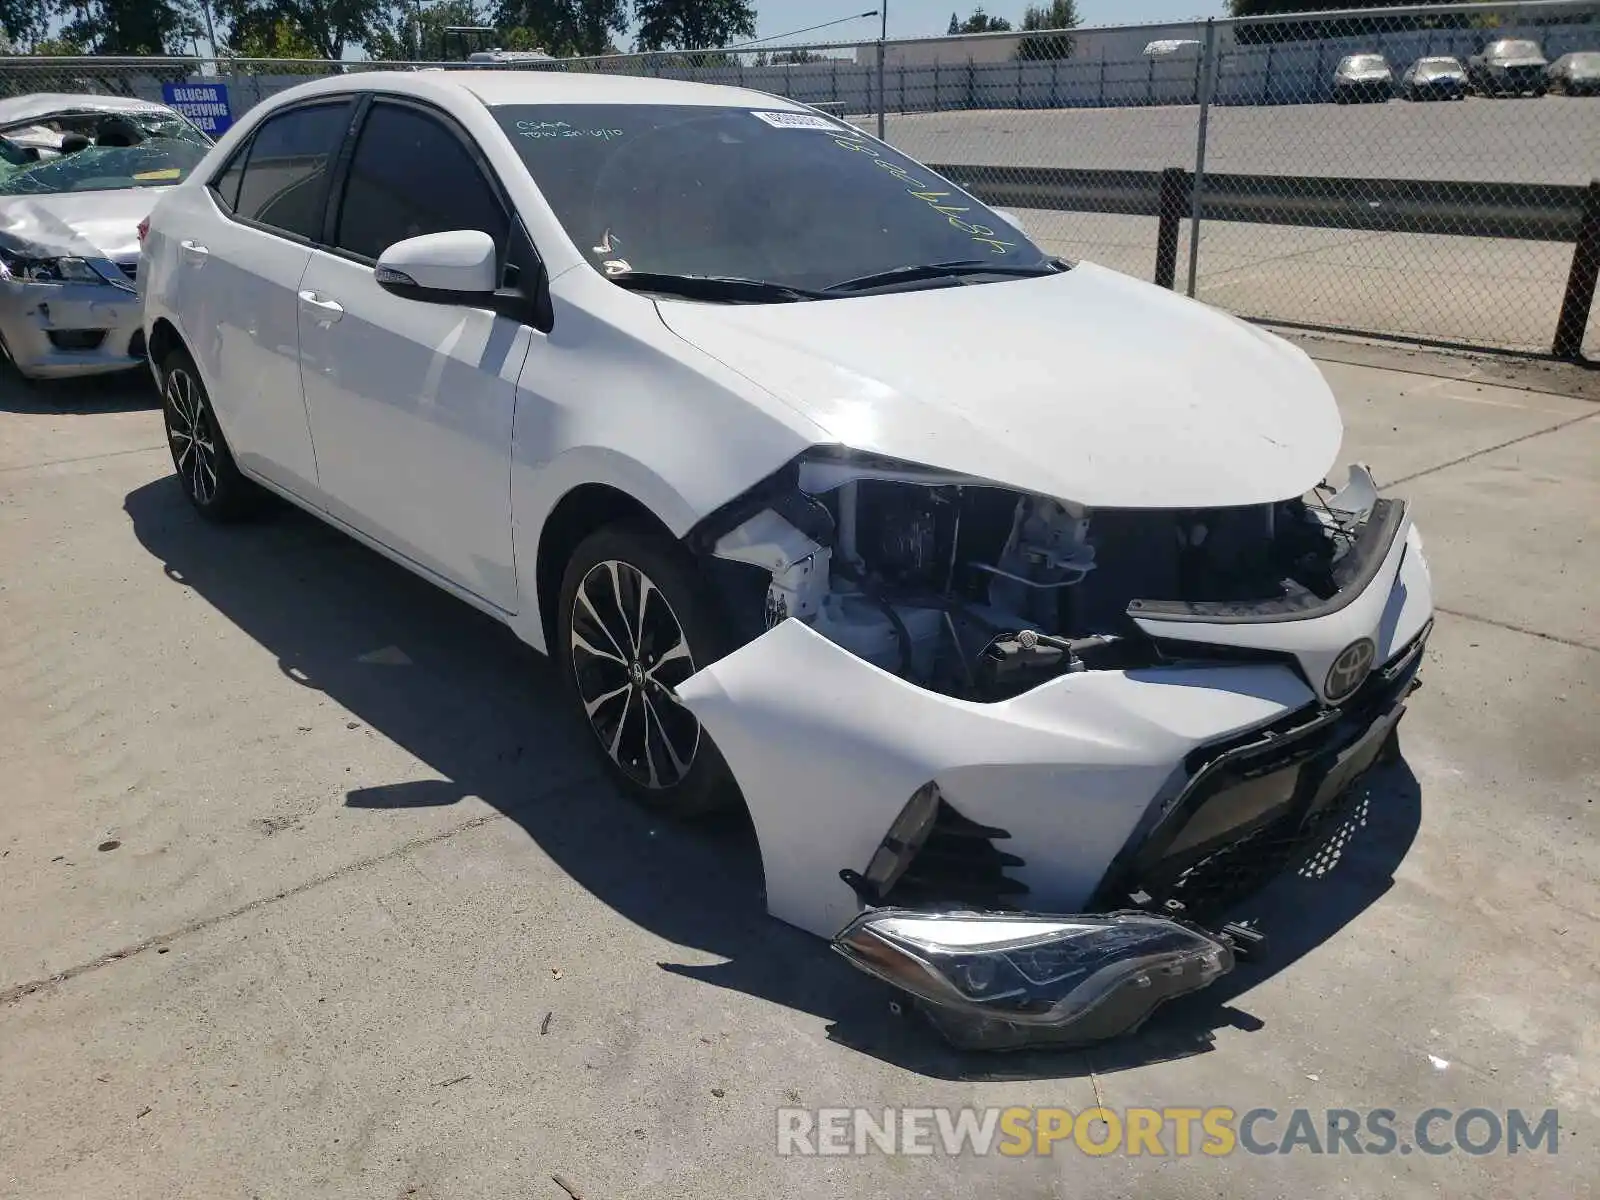
{"type": "Polygon", "coordinates": [[[318,480],[298,293],[352,114],[346,98],[269,117],[210,181],[214,210],[176,234],[178,314],[234,456],[307,501],[318,480]]]}

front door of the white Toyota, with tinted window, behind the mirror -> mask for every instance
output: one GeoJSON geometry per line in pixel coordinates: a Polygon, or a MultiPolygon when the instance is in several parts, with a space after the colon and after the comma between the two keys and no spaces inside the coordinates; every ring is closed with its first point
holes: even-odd
{"type": "Polygon", "coordinates": [[[301,378],[330,512],[514,613],[510,450],[531,331],[485,309],[402,299],[373,266],[395,242],[478,229],[506,262],[510,210],[445,114],[374,99],[299,282],[301,378]]]}

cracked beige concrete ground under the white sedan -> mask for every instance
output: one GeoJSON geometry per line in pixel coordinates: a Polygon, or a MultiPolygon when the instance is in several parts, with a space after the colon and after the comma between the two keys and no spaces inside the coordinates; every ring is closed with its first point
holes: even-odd
{"type": "Polygon", "coordinates": [[[1253,906],[1266,963],[1026,1058],[765,917],[738,826],[624,803],[490,621],[294,512],[202,525],[142,384],[0,381],[0,1195],[1592,1194],[1594,376],[1315,352],[1432,558],[1406,763],[1253,906]],[[1555,1107],[1560,1152],[774,1152],[784,1104],[1096,1102],[1555,1107]]]}

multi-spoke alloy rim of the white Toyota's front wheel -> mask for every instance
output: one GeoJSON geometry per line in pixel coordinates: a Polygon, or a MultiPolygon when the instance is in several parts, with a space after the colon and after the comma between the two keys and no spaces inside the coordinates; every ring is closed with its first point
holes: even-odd
{"type": "Polygon", "coordinates": [[[694,674],[694,654],[661,589],[632,563],[595,563],[573,597],[570,650],[584,715],[611,762],[651,790],[683,782],[701,728],[674,688],[694,674]]]}

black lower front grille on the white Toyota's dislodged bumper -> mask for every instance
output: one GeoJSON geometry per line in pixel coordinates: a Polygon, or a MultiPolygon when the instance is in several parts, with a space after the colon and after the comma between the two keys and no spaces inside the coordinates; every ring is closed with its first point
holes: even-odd
{"type": "Polygon", "coordinates": [[[1357,784],[1370,763],[1362,758],[1381,750],[1363,739],[1410,691],[1427,632],[1374,670],[1342,707],[1301,709],[1192,754],[1187,790],[1149,840],[1112,869],[1098,901],[1117,907],[1142,894],[1155,904],[1176,901],[1186,915],[1206,920],[1298,862],[1317,864],[1330,848],[1336,861],[1350,822],[1363,816],[1357,784]],[[1358,757],[1341,762],[1358,746],[1358,757]]]}

